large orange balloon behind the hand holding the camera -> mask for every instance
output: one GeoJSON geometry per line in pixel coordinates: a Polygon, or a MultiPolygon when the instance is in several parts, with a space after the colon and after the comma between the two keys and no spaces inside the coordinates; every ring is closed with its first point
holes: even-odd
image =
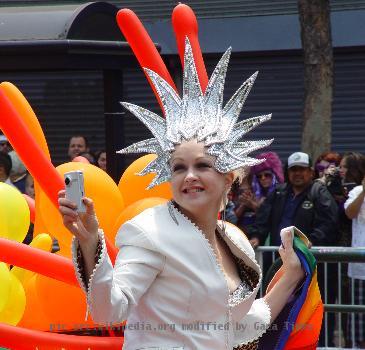
{"type": "MultiPolygon", "coordinates": [[[[113,227],[120,212],[124,208],[123,197],[114,180],[100,168],[86,163],[70,162],[59,165],[57,171],[62,175],[75,170],[84,173],[85,195],[94,201],[95,212],[99,226],[104,230],[106,237],[114,242],[113,227]]],[[[55,236],[62,247],[71,246],[72,234],[63,225],[61,214],[44,192],[40,192],[40,213],[47,232],[55,236]]]]}

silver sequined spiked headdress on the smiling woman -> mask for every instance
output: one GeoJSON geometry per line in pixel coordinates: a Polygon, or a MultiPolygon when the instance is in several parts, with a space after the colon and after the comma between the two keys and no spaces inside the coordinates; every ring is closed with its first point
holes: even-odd
{"type": "Polygon", "coordinates": [[[264,159],[248,157],[250,152],[268,146],[271,140],[239,141],[250,130],[271,118],[271,114],[237,122],[243,104],[256,79],[257,73],[248,78],[227,104],[223,104],[223,89],[231,49],[229,48],[213,71],[203,94],[195,67],[189,40],[185,41],[183,96],[158,74],[145,68],[165,112],[165,118],[131,103],[122,105],[134,114],[152,132],[153,138],[134,143],[117,153],[155,153],[138,175],[155,173],[147,188],[152,188],[171,178],[169,159],[175,146],[182,141],[196,139],[204,143],[207,153],[214,156],[214,168],[227,173],[239,168],[260,164],[264,159]]]}

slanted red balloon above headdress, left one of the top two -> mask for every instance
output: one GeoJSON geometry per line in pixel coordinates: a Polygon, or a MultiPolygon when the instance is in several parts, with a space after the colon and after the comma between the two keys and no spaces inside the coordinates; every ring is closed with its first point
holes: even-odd
{"type": "MultiPolygon", "coordinates": [[[[117,13],[117,23],[141,67],[153,70],[177,91],[161,55],[137,15],[129,9],[119,10],[117,13]]],[[[147,75],[146,77],[162,108],[160,98],[153,84],[147,75]]]]}

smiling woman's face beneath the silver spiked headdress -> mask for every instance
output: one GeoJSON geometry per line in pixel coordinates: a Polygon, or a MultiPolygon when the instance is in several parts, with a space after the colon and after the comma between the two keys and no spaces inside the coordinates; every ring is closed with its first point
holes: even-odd
{"type": "Polygon", "coordinates": [[[221,174],[214,168],[214,157],[196,140],[175,148],[170,160],[171,188],[176,203],[194,215],[205,209],[218,212],[223,194],[232,184],[232,174],[221,174]]]}

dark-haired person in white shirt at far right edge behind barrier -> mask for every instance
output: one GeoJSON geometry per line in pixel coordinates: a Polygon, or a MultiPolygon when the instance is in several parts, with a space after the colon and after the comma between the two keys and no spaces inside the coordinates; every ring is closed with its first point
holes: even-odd
{"type": "MultiPolygon", "coordinates": [[[[345,202],[345,212],[352,220],[352,247],[365,247],[365,156],[357,152],[346,153],[341,161],[341,174],[352,189],[345,202]],[[354,186],[354,184],[356,186],[354,186]]],[[[365,302],[365,263],[349,263],[348,276],[353,280],[354,304],[365,302]]],[[[365,349],[365,315],[354,313],[348,318],[348,345],[365,349]],[[352,329],[355,338],[353,339],[352,329]]]]}

